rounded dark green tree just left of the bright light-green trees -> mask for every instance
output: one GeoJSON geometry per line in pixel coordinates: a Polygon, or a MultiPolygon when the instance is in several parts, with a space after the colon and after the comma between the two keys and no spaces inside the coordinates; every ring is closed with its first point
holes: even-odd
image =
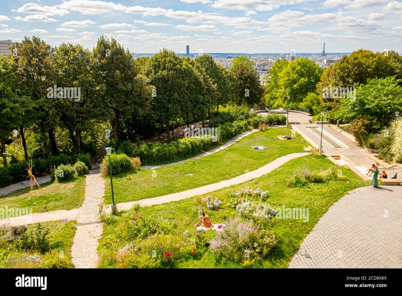
{"type": "Polygon", "coordinates": [[[229,70],[232,102],[237,106],[245,103],[252,107],[261,101],[263,88],[256,70],[246,64],[236,64],[229,70]]]}

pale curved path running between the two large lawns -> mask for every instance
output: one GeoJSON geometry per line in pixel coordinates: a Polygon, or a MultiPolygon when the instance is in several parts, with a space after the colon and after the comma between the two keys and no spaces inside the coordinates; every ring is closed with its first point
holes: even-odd
{"type": "Polygon", "coordinates": [[[181,192],[172,193],[172,194],[168,194],[168,195],[162,195],[160,197],[152,197],[149,199],[141,199],[139,201],[129,201],[126,203],[119,203],[119,204],[117,204],[117,208],[119,210],[128,210],[128,209],[131,209],[131,207],[133,207],[133,205],[135,205],[137,203],[139,203],[140,205],[143,205],[143,206],[159,205],[162,203],[168,203],[170,201],[178,201],[180,199],[187,199],[187,198],[193,197],[195,195],[202,195],[205,193],[209,193],[211,191],[215,191],[215,190],[222,189],[222,188],[232,186],[232,185],[237,185],[237,184],[244,183],[244,182],[250,181],[252,179],[258,178],[260,176],[268,174],[269,172],[272,172],[273,170],[279,168],[280,166],[282,166],[283,164],[285,164],[287,161],[289,161],[291,159],[301,157],[301,156],[306,156],[308,154],[310,154],[310,153],[299,152],[299,153],[287,154],[287,155],[284,155],[284,156],[281,156],[281,157],[275,159],[274,161],[271,161],[269,164],[266,164],[265,166],[262,166],[261,168],[258,168],[252,172],[248,172],[246,174],[237,176],[237,177],[229,179],[229,180],[224,180],[221,182],[205,185],[202,187],[198,187],[198,188],[194,188],[194,189],[190,189],[190,190],[186,190],[186,191],[181,191],[181,192]]]}

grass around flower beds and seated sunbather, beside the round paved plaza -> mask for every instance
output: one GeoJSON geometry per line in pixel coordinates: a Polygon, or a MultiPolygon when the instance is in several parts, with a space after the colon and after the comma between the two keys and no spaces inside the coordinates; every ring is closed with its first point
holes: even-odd
{"type": "MultiPolygon", "coordinates": [[[[272,230],[280,240],[270,251],[267,258],[253,266],[260,268],[286,268],[293,255],[297,252],[300,243],[313,229],[320,217],[326,213],[328,208],[349,190],[365,185],[368,185],[368,182],[361,180],[361,178],[353,174],[353,172],[347,168],[336,166],[326,157],[308,155],[288,161],[280,168],[277,168],[265,176],[240,185],[217,190],[213,193],[209,193],[209,195],[212,194],[214,197],[218,197],[222,201],[222,204],[226,204],[230,192],[238,191],[245,187],[254,189],[259,187],[262,190],[269,190],[269,198],[265,203],[268,203],[274,209],[281,208],[283,205],[287,208],[309,208],[309,220],[306,223],[301,219],[277,219],[277,221],[275,221],[272,230]],[[293,172],[303,166],[308,167],[312,172],[326,170],[328,168],[341,170],[343,176],[347,176],[349,180],[331,180],[324,183],[309,183],[303,187],[287,187],[286,182],[291,178],[293,172]]],[[[164,219],[174,221],[178,227],[178,233],[183,233],[186,229],[194,233],[196,230],[193,224],[198,220],[198,210],[200,208],[199,200],[205,196],[206,195],[193,197],[162,205],[142,207],[140,212],[144,217],[153,218],[162,216],[164,219]]],[[[120,247],[123,247],[126,243],[132,243],[118,241],[115,237],[115,229],[122,227],[123,224],[130,219],[133,211],[134,209],[131,209],[130,211],[119,213],[110,223],[104,224],[103,238],[100,240],[100,246],[98,248],[100,255],[106,252],[109,247],[107,244],[108,240],[116,240],[118,244],[121,244],[120,247]]],[[[225,223],[230,217],[236,215],[236,210],[224,208],[217,211],[207,211],[207,213],[211,217],[212,223],[225,223]]],[[[209,241],[215,235],[215,232],[212,230],[206,233],[209,241]]],[[[241,266],[231,261],[224,261],[222,263],[215,262],[213,252],[208,249],[200,259],[179,259],[175,267],[237,268],[241,266]]]]}

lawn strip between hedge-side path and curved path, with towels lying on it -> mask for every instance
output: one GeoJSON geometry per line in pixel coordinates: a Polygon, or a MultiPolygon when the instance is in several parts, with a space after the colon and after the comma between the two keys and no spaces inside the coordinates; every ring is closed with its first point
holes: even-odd
{"type": "MultiPolygon", "coordinates": [[[[289,128],[269,128],[254,132],[221,151],[183,164],[113,176],[115,201],[137,201],[213,184],[256,170],[282,155],[304,152],[306,142],[299,135],[284,141],[277,138],[290,134],[289,128]],[[255,150],[250,146],[267,149],[255,150]]],[[[109,179],[106,180],[105,199],[107,203],[112,199],[109,179]]]]}

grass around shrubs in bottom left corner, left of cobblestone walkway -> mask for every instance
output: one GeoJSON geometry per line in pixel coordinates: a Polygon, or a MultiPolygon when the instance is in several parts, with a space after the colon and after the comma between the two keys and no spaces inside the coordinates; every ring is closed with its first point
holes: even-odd
{"type": "MultiPolygon", "coordinates": [[[[51,246],[51,250],[42,254],[35,249],[18,250],[13,242],[4,239],[10,232],[8,228],[6,236],[2,237],[0,233],[0,268],[72,268],[71,247],[76,232],[73,224],[76,220],[68,222],[44,222],[40,225],[45,229],[49,229],[49,242],[57,245],[51,246]]],[[[38,224],[30,224],[27,226],[27,233],[35,233],[38,224]]],[[[7,228],[7,226],[2,226],[7,228]]],[[[36,240],[35,234],[30,236],[36,240]]]]}

